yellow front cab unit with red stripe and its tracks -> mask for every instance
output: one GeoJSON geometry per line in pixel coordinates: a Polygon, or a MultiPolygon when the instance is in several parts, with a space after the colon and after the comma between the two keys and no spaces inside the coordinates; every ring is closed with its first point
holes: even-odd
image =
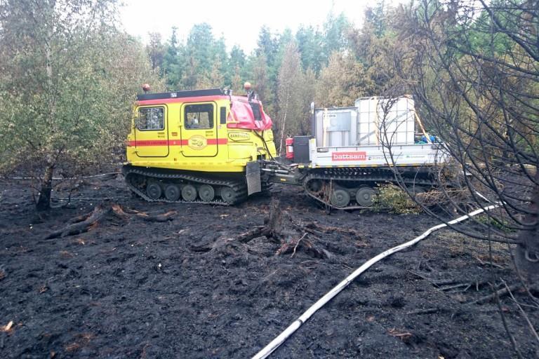
{"type": "Polygon", "coordinates": [[[248,163],[276,156],[272,120],[250,85],[246,90],[138,95],[124,165],[128,187],[147,201],[246,198],[248,163]]]}

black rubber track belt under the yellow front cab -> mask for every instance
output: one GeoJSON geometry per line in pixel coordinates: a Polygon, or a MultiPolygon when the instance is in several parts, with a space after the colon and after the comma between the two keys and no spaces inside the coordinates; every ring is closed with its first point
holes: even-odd
{"type": "Polygon", "coordinates": [[[151,170],[145,170],[145,169],[135,168],[135,167],[129,167],[129,168],[124,167],[123,172],[124,172],[124,177],[126,178],[126,184],[128,185],[129,189],[131,189],[131,191],[133,191],[135,194],[140,196],[140,198],[148,202],[199,203],[199,204],[206,204],[206,205],[235,205],[237,203],[240,203],[241,201],[245,201],[247,198],[247,185],[242,184],[240,181],[208,179],[204,177],[197,177],[194,175],[185,175],[182,173],[152,172],[151,170]],[[168,199],[166,198],[152,199],[152,198],[149,198],[143,191],[140,191],[140,189],[133,186],[133,184],[131,184],[131,182],[128,181],[128,175],[131,175],[132,173],[136,175],[142,175],[148,178],[184,179],[192,183],[194,182],[194,183],[199,183],[199,184],[210,184],[212,186],[228,186],[228,187],[232,187],[232,189],[234,189],[237,195],[236,195],[236,199],[234,199],[234,202],[231,202],[231,203],[222,201],[222,199],[218,199],[216,201],[209,201],[209,202],[202,201],[201,199],[197,199],[196,201],[184,201],[182,199],[180,199],[179,201],[168,201],[168,199]]]}

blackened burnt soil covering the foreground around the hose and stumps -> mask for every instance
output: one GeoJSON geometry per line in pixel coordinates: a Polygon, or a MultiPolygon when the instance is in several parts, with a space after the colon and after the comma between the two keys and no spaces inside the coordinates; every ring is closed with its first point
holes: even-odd
{"type": "MultiPolygon", "coordinates": [[[[67,197],[57,189],[53,196],[67,197]]],[[[321,235],[329,258],[301,244],[293,256],[277,255],[279,243],[265,237],[234,241],[264,223],[267,196],[236,207],[145,203],[118,175],[86,179],[72,193],[86,199],[37,213],[29,184],[2,180],[0,325],[13,326],[0,330],[0,358],[250,358],[367,259],[438,223],[359,210],[327,215],[295,187],[272,196],[299,221],[359,236],[321,235]],[[178,213],[166,222],[112,213],[86,233],[44,239],[102,198],[124,210],[178,213]]],[[[512,273],[503,245],[489,256],[487,243],[443,229],[375,264],[270,358],[512,358],[498,305],[466,304],[512,273]]],[[[507,297],[500,306],[524,358],[535,357],[517,307],[507,297]]],[[[539,322],[537,312],[531,320],[539,322]]]]}

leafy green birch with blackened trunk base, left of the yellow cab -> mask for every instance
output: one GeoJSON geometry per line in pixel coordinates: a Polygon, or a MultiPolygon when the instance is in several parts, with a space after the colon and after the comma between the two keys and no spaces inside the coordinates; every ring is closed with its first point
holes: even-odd
{"type": "Polygon", "coordinates": [[[122,52],[132,43],[114,29],[116,7],[114,0],[0,2],[0,170],[41,170],[38,209],[50,206],[56,169],[102,161],[126,128],[126,101],[140,77],[124,77],[123,65],[152,73],[142,52],[122,52]]]}

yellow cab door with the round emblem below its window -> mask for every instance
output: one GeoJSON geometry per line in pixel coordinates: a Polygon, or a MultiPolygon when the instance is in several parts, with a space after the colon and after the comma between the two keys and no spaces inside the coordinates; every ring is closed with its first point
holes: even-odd
{"type": "Polygon", "coordinates": [[[182,154],[185,157],[214,157],[219,151],[217,105],[215,102],[182,106],[182,154]]]}

